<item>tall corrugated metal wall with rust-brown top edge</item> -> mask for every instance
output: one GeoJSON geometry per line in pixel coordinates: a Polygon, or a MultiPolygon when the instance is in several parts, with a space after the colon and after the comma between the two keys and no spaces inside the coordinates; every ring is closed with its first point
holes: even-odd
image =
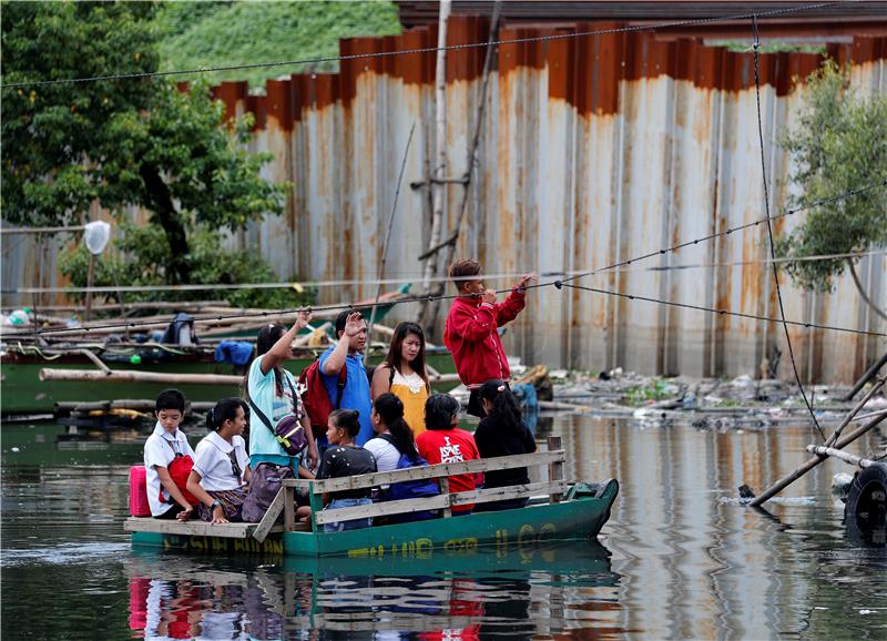
{"type": "MultiPolygon", "coordinates": [[[[612,27],[587,23],[575,30],[612,27]]],[[[483,41],[488,28],[483,19],[453,17],[449,41],[483,41]]],[[[500,37],[554,32],[510,29],[500,37]]],[[[434,47],[436,38],[434,28],[419,28],[400,37],[351,39],[341,42],[341,53],[434,47]]],[[[855,38],[829,53],[853,61],[860,90],[887,91],[887,39],[855,38]]],[[[482,59],[481,49],[448,54],[451,176],[466,172],[482,59]]],[[[693,40],[657,41],[651,33],[611,33],[501,45],[495,59],[480,172],[457,252],[478,256],[489,273],[602,267],[763,217],[750,53],[693,40]]],[[[785,200],[789,170],[775,141],[793,126],[803,99],[792,79],[819,61],[801,53],[761,60],[774,212],[785,200]]],[[[338,74],[269,81],[265,96],[247,95],[244,83],[217,88],[228,113],[256,114],[252,146],[275,159],[267,177],[294,184],[284,216],[254,225],[232,243],[258,248],[283,278],[374,278],[400,157],[416,122],[387,275],[418,283],[416,258],[427,244],[428,204],[422,190],[407,185],[424,180],[432,157],[432,83],[434,54],[414,53],[343,61],[338,74]]],[[[450,223],[461,189],[448,187],[450,223]]],[[[775,231],[787,231],[799,220],[779,220],[775,231]]],[[[648,271],[764,260],[767,252],[762,225],[582,283],[778,316],[766,264],[648,271]]],[[[859,272],[873,298],[887,301],[887,260],[863,258],[859,272]]],[[[3,274],[9,282],[7,266],[3,274]]],[[[23,277],[16,281],[30,285],[23,277]]],[[[887,332],[887,323],[869,313],[849,277],[829,295],[797,291],[783,278],[788,318],[887,332]]],[[[323,291],[322,299],[374,294],[374,285],[346,286],[323,291]]],[[[411,306],[398,311],[400,317],[415,313],[411,306]]],[[[796,328],[792,338],[807,380],[850,381],[887,349],[884,338],[835,332],[796,328]]],[[[786,354],[775,324],[554,288],[530,296],[506,343],[531,363],[691,376],[756,374],[763,358],[775,350],[786,354]]],[[[785,377],[787,367],[787,357],[782,358],[785,377]]]]}

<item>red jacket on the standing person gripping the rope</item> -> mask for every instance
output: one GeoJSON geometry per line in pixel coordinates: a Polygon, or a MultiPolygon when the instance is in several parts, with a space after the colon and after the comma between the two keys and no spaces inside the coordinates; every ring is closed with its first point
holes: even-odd
{"type": "Polygon", "coordinates": [[[470,387],[493,378],[509,379],[511,369],[496,328],[518,316],[526,297],[524,292],[514,287],[508,298],[496,305],[468,297],[456,298],[452,303],[443,344],[452,353],[462,384],[470,387]]]}

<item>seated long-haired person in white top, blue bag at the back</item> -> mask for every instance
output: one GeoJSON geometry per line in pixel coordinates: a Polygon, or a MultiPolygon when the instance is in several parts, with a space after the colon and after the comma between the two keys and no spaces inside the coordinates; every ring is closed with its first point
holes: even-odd
{"type": "MultiPolygon", "coordinates": [[[[379,435],[364,446],[376,457],[379,471],[408,469],[428,466],[416,449],[412,429],[404,420],[404,401],[394,394],[383,394],[373,404],[370,421],[379,435]]],[[[424,497],[436,497],[440,489],[432,479],[416,479],[383,486],[376,500],[405,500],[424,497]]],[[[389,523],[406,523],[437,518],[437,510],[421,510],[410,513],[391,515],[385,520],[389,523]]],[[[378,520],[376,525],[379,525],[378,520]]]]}

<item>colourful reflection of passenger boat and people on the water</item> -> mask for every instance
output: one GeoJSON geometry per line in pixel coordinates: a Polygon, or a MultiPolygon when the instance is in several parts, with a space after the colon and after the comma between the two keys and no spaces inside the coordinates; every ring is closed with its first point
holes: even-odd
{"type": "Polygon", "coordinates": [[[227,559],[133,551],[130,629],[146,639],[623,634],[601,543],[428,550],[412,558],[227,559]]]}

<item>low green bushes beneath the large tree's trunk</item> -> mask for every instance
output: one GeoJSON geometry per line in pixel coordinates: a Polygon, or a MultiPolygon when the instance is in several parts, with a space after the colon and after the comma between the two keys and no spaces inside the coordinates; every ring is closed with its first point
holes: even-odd
{"type": "MultiPolygon", "coordinates": [[[[171,263],[170,245],[161,227],[146,225],[136,227],[124,223],[119,240],[111,251],[105,251],[95,261],[94,285],[114,287],[120,285],[163,285],[167,282],[166,265],[171,263]]],[[[223,247],[222,234],[200,226],[191,234],[192,277],[196,283],[267,283],[276,281],[272,269],[261,258],[223,247]]],[[[74,287],[86,286],[89,253],[82,243],[70,247],[59,260],[62,274],[74,287]]],[[[296,279],[296,278],[293,278],[296,279]]],[[[316,301],[316,291],[306,289],[297,294],[287,289],[220,289],[217,292],[146,292],[124,293],[125,303],[135,301],[186,301],[218,297],[239,307],[266,307],[285,309],[310,305],[316,301]]],[[[82,297],[82,295],[78,295],[82,297]]],[[[116,301],[113,294],[105,295],[109,302],[116,301]]]]}

